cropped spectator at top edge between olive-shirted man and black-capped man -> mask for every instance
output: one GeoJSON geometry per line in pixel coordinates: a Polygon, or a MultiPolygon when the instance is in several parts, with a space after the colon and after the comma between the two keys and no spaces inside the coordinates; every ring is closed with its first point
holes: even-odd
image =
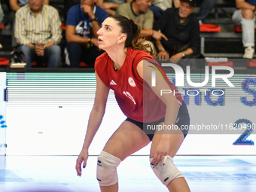
{"type": "Polygon", "coordinates": [[[167,8],[172,8],[172,2],[175,8],[179,7],[180,0],[153,0],[149,9],[153,11],[154,19],[158,20],[163,14],[163,11],[166,11],[167,8]]]}

